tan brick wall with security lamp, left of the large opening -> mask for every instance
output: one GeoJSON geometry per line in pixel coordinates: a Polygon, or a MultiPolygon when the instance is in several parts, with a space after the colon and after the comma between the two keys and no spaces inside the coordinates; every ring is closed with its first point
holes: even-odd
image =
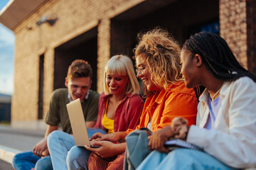
{"type": "MultiPolygon", "coordinates": [[[[47,1],[14,29],[16,34],[14,94],[11,120],[37,120],[39,56],[44,54],[43,118],[53,91],[54,50],[64,42],[98,28],[97,91],[103,91],[104,67],[110,58],[110,18],[143,0],[53,0],[47,1]],[[57,16],[53,26],[36,22],[57,16]]],[[[95,75],[96,76],[96,75],[95,75]]]]}

